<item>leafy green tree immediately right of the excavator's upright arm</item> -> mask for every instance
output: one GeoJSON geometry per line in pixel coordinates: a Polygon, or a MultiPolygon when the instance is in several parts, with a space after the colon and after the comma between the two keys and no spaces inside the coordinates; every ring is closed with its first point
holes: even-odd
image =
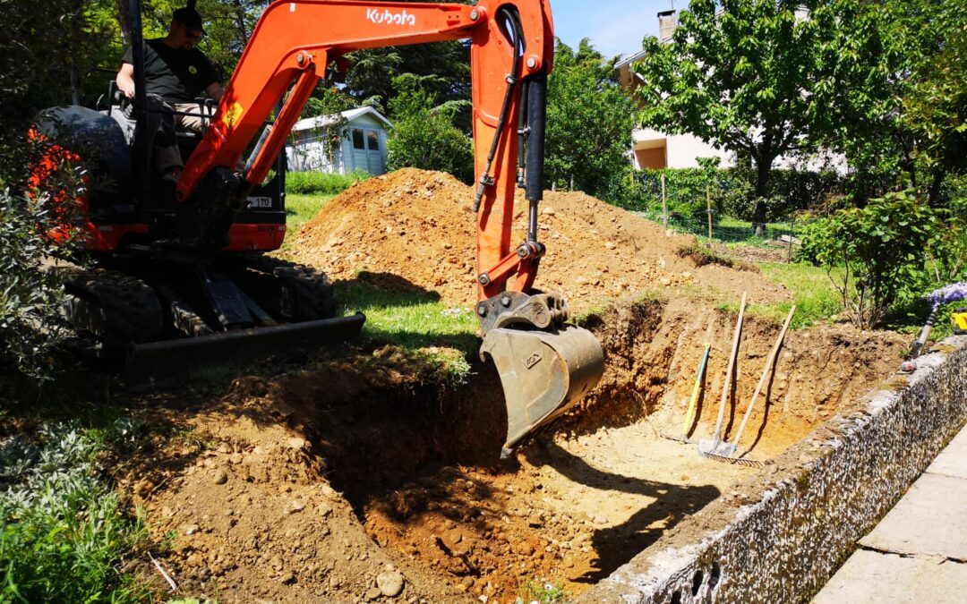
{"type": "Polygon", "coordinates": [[[634,105],[588,39],[557,41],[547,82],[547,179],[597,193],[628,165],[634,105]]]}

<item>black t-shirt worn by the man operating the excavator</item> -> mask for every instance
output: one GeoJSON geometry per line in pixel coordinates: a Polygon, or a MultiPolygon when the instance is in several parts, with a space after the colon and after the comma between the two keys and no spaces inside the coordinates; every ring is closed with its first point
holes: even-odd
{"type": "MultiPolygon", "coordinates": [[[[129,46],[122,60],[133,65],[132,57],[129,46]]],[[[201,50],[172,48],[163,38],[144,41],[144,78],[148,94],[173,102],[194,101],[210,84],[219,81],[201,50]]]]}

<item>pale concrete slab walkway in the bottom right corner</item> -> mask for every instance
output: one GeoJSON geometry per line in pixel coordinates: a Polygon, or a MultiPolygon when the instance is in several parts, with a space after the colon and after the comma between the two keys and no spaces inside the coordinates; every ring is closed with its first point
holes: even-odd
{"type": "Polygon", "coordinates": [[[967,427],[857,546],[815,604],[967,601],[967,427]]]}

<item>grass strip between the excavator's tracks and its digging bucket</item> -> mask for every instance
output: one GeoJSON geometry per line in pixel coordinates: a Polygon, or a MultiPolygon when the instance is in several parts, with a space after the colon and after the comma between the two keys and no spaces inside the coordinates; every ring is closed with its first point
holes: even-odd
{"type": "Polygon", "coordinates": [[[445,368],[454,383],[463,382],[470,372],[468,359],[480,348],[473,309],[448,306],[432,292],[386,291],[364,279],[336,282],[344,314],[366,314],[364,337],[425,356],[445,368]]]}

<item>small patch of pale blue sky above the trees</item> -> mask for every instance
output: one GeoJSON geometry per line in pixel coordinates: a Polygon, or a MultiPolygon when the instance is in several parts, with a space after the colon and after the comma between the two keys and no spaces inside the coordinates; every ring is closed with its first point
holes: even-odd
{"type": "Polygon", "coordinates": [[[550,0],[554,35],[572,48],[590,38],[610,58],[641,49],[641,39],[659,32],[658,14],[683,9],[688,0],[550,0]]]}

